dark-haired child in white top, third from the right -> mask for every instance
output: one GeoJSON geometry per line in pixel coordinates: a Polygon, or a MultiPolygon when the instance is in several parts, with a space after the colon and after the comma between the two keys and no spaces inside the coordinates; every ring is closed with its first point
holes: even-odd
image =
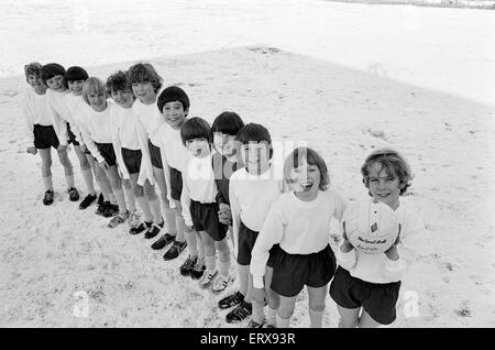
{"type": "MultiPolygon", "coordinates": [[[[227,315],[227,321],[240,321],[253,314],[248,327],[261,328],[265,321],[264,303],[253,300],[251,297],[253,289],[253,278],[250,274],[251,252],[270,207],[280,196],[283,186],[282,181],[274,174],[271,162],[273,147],[268,130],[263,125],[250,123],[239,131],[237,140],[241,143],[244,167],[238,169],[230,178],[229,197],[238,274],[241,293],[245,297],[227,315]]],[[[267,265],[272,266],[271,260],[267,265]]],[[[267,275],[271,272],[268,269],[267,275]]],[[[270,306],[267,322],[275,325],[279,299],[270,288],[267,296],[270,306]]]]}

